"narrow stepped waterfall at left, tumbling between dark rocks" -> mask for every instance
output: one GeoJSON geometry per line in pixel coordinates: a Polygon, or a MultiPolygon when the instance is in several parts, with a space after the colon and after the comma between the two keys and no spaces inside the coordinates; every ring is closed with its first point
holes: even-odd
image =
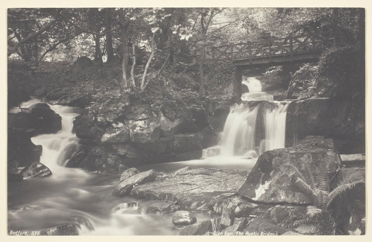
{"type": "MultiPolygon", "coordinates": [[[[19,107],[11,108],[10,113],[27,112],[36,103],[42,102],[42,99],[31,99],[28,102],[22,102],[19,107]]],[[[49,105],[49,104],[48,104],[49,105]]],[[[62,171],[67,161],[78,150],[78,138],[72,132],[73,121],[80,114],[80,108],[67,107],[62,105],[49,105],[49,107],[59,114],[62,118],[62,129],[55,134],[40,134],[31,138],[32,143],[42,145],[42,154],[40,162],[52,170],[55,174],[62,171]]],[[[65,171],[67,172],[67,171],[65,171]]],[[[54,176],[53,176],[54,177],[54,176]]]]}

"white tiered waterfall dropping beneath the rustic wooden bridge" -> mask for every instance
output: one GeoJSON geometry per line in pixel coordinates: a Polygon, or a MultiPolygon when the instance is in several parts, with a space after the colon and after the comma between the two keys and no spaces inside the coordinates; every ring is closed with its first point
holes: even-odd
{"type": "Polygon", "coordinates": [[[267,150],[285,147],[285,124],[288,103],[273,101],[262,92],[256,78],[242,81],[250,92],[242,94],[242,101],[264,101],[255,106],[249,102],[235,104],[225,121],[219,145],[203,150],[203,158],[212,156],[244,156],[257,158],[267,150]]]}

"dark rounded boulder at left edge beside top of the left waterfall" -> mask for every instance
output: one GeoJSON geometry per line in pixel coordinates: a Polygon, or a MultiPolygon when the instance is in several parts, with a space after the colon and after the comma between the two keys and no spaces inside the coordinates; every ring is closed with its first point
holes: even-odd
{"type": "Polygon", "coordinates": [[[22,129],[33,129],[35,134],[56,133],[62,128],[62,118],[56,114],[48,104],[37,103],[23,112],[9,114],[12,127],[22,129]]]}

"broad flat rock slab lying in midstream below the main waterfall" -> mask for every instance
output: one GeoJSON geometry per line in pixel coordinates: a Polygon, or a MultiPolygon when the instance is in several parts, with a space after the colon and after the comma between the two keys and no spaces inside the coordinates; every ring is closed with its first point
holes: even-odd
{"type": "Polygon", "coordinates": [[[141,199],[177,201],[184,210],[209,211],[219,200],[234,196],[245,178],[244,171],[190,169],[165,180],[135,186],[131,194],[141,199]]]}

